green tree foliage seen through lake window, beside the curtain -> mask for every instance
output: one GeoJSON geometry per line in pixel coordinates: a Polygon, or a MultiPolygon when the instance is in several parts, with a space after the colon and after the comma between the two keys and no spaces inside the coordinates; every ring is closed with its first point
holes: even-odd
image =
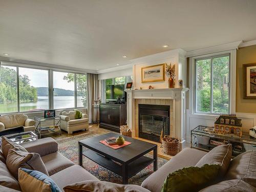
{"type": "MultiPolygon", "coordinates": [[[[63,77],[64,80],[68,82],[74,82],[75,74],[68,73],[67,76],[63,77]]],[[[77,86],[77,96],[82,96],[83,106],[87,106],[87,75],[86,74],[76,74],[76,86],[77,86]]]]}

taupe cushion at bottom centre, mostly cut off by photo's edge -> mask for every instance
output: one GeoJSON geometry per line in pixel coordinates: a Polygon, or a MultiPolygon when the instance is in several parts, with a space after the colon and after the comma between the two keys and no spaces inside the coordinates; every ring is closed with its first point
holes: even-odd
{"type": "Polygon", "coordinates": [[[63,189],[65,192],[150,192],[149,190],[138,185],[121,185],[99,180],[82,181],[79,183],[67,185],[63,189]]]}

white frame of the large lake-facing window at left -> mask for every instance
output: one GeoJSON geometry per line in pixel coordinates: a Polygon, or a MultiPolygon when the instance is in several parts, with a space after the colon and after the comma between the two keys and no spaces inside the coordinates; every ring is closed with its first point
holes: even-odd
{"type": "MultiPolygon", "coordinates": [[[[53,72],[63,72],[63,73],[74,73],[75,77],[74,77],[74,98],[75,98],[75,103],[74,103],[74,108],[76,109],[87,109],[87,106],[79,106],[77,107],[77,82],[76,82],[76,75],[77,74],[81,74],[81,75],[87,75],[87,73],[79,73],[76,71],[72,71],[72,70],[57,70],[57,69],[50,69],[50,68],[44,68],[44,67],[34,67],[31,65],[22,65],[22,64],[18,64],[18,63],[9,63],[9,62],[1,62],[1,66],[6,66],[6,67],[15,67],[16,68],[16,78],[17,78],[17,111],[13,111],[13,112],[6,112],[6,113],[1,113],[3,115],[5,114],[13,114],[13,113],[38,113],[38,112],[42,112],[44,110],[37,110],[37,111],[22,111],[20,112],[20,106],[19,106],[19,68],[28,68],[28,69],[35,69],[35,70],[45,70],[48,71],[48,98],[49,98],[49,110],[53,110],[54,109],[54,97],[53,97],[53,72]]],[[[74,108],[60,108],[60,109],[56,109],[58,111],[61,111],[63,109],[74,109],[74,108]]]]}

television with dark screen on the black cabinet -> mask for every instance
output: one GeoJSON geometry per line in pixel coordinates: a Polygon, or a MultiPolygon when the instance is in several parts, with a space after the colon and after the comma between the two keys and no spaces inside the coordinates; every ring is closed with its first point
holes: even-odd
{"type": "Polygon", "coordinates": [[[113,84],[106,86],[106,101],[116,101],[124,97],[124,84],[113,84]]]}

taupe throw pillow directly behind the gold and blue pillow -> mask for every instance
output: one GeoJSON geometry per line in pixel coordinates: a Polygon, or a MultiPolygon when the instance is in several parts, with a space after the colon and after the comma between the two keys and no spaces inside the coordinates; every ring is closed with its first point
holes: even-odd
{"type": "Polygon", "coordinates": [[[48,172],[44,162],[42,162],[41,157],[37,153],[28,153],[22,151],[9,150],[6,164],[11,174],[18,179],[18,168],[29,168],[38,170],[46,175],[48,172]]]}

